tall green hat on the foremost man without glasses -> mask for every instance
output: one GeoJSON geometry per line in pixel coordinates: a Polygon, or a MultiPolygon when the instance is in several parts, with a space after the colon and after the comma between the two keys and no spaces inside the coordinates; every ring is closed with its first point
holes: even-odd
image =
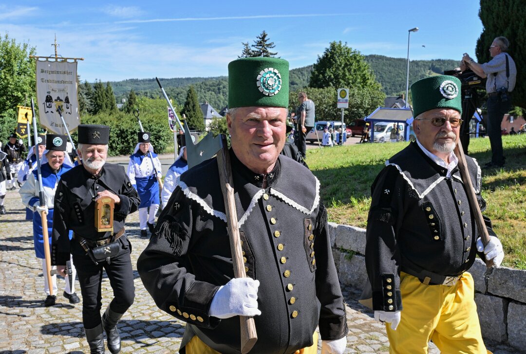
{"type": "Polygon", "coordinates": [[[228,108],[289,107],[289,62],[241,58],[228,64],[228,108]]]}

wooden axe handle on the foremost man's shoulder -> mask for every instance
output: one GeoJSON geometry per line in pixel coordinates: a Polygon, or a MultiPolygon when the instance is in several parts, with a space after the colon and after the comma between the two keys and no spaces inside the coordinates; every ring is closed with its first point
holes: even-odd
{"type": "MultiPolygon", "coordinates": [[[[230,252],[232,263],[234,263],[234,276],[245,278],[245,263],[241,251],[241,240],[239,238],[239,227],[237,225],[236,203],[234,200],[234,182],[232,180],[232,168],[230,166],[230,155],[228,149],[222,148],[217,153],[217,165],[219,168],[219,181],[225,201],[227,215],[228,236],[230,239],[230,252]]],[[[254,318],[239,316],[241,321],[241,353],[246,354],[254,347],[258,340],[254,318]]]]}

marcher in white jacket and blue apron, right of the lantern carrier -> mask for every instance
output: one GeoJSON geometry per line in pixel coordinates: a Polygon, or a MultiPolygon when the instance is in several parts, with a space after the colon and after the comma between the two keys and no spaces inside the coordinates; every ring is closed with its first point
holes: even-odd
{"type": "Polygon", "coordinates": [[[159,182],[157,182],[157,178],[160,178],[162,173],[161,163],[150,143],[150,133],[139,131],[137,137],[139,142],[133,155],[130,156],[127,174],[140,197],[140,235],[146,237],[148,236],[147,227],[150,233],[154,232],[155,214],[159,209],[159,182]]]}

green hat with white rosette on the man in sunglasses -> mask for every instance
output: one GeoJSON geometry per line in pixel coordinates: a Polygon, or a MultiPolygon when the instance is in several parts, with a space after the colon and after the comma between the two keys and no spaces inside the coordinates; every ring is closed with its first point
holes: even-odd
{"type": "Polygon", "coordinates": [[[462,114],[460,80],[454,76],[439,75],[418,80],[411,85],[413,117],[435,108],[451,108],[462,114]]]}

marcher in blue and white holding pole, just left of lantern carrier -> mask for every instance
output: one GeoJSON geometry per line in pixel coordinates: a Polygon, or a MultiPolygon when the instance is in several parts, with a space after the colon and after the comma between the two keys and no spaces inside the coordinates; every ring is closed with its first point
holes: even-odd
{"type": "MultiPolygon", "coordinates": [[[[44,155],[47,162],[42,161],[42,185],[44,188],[44,200],[46,205],[43,207],[47,215],[47,227],[48,235],[52,234],[53,229],[53,214],[54,214],[54,201],[55,192],[57,190],[58,181],[64,173],[72,169],[72,166],[64,164],[65,153],[66,153],[66,142],[67,137],[65,135],[48,134],[46,139],[46,150],[47,153],[44,155]]],[[[38,145],[41,147],[42,145],[38,145]]],[[[42,149],[42,148],[41,148],[42,149]]],[[[44,160],[44,159],[43,159],[44,160]]],[[[36,159],[35,159],[36,164],[36,159]]],[[[38,205],[39,197],[38,187],[38,176],[36,169],[30,172],[27,176],[27,180],[20,189],[19,193],[22,196],[22,202],[26,207],[33,210],[33,242],[35,244],[35,254],[37,258],[42,259],[42,270],[44,274],[47,274],[46,259],[44,256],[44,241],[43,230],[42,230],[42,207],[38,205]]],[[[68,235],[71,240],[72,232],[68,235]]],[[[71,255],[69,261],[72,261],[71,255]]],[[[64,297],[69,300],[70,304],[77,304],[80,302],[77,294],[75,293],[74,280],[76,276],[76,269],[72,262],[72,274],[71,279],[67,278],[66,289],[64,291],[64,297]]],[[[57,293],[56,275],[52,277],[53,294],[57,293]]],[[[44,276],[44,291],[47,294],[47,298],[44,301],[45,306],[55,305],[56,295],[49,295],[49,284],[47,283],[47,277],[44,276]]]]}

